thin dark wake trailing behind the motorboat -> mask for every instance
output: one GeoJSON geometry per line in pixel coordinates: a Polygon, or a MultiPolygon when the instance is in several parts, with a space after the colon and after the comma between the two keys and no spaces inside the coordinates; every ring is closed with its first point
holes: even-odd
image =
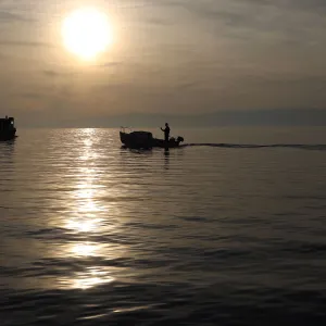
{"type": "Polygon", "coordinates": [[[298,145],[298,143],[274,143],[274,145],[243,145],[243,143],[185,143],[181,147],[217,147],[217,148],[239,148],[239,149],[260,149],[260,148],[290,148],[313,151],[326,151],[326,145],[298,145]]]}

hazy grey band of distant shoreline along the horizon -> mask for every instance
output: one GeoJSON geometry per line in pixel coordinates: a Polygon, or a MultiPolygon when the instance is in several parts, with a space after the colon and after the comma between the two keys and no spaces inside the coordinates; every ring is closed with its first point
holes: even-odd
{"type": "MultiPolygon", "coordinates": [[[[1,115],[14,115],[2,111],[1,115]]],[[[213,113],[172,115],[130,113],[105,116],[48,117],[46,114],[14,115],[17,127],[158,127],[165,122],[175,127],[221,127],[221,126],[326,126],[326,110],[262,110],[220,111],[213,113]]]]}

